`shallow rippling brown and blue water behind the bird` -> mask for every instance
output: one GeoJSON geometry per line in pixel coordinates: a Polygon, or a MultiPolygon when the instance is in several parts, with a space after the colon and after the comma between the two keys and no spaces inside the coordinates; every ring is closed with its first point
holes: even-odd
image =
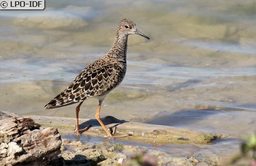
{"type": "MultiPolygon", "coordinates": [[[[126,77],[104,100],[101,117],[214,130],[238,139],[252,134],[255,1],[126,3],[47,1],[44,11],[1,11],[1,110],[75,117],[76,105],[44,105],[109,51],[118,22],[129,18],[150,40],[129,36],[126,77]]],[[[94,119],[96,107],[96,99],[87,100],[80,117],[94,119]]]]}

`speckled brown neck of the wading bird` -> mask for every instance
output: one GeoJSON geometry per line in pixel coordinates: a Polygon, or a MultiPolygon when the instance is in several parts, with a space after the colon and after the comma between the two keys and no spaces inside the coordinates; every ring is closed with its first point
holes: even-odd
{"type": "Polygon", "coordinates": [[[117,61],[126,62],[128,35],[120,35],[117,32],[114,44],[111,48],[112,56],[117,58],[117,61]]]}

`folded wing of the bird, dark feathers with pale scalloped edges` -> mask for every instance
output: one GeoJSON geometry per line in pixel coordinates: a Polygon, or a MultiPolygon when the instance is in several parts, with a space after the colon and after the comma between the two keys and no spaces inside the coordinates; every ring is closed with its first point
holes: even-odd
{"type": "Polygon", "coordinates": [[[90,97],[104,95],[118,85],[116,77],[121,70],[117,64],[88,66],[84,69],[67,89],[63,90],[44,107],[54,109],[65,105],[82,102],[90,97]]]}

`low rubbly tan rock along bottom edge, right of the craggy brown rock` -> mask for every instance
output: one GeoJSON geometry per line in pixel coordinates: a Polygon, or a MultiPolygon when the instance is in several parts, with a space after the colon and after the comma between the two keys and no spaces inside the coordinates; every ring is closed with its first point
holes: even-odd
{"type": "Polygon", "coordinates": [[[174,157],[157,149],[149,150],[139,146],[107,142],[86,145],[65,139],[63,144],[69,149],[60,154],[64,165],[217,165],[208,159],[174,157]]]}

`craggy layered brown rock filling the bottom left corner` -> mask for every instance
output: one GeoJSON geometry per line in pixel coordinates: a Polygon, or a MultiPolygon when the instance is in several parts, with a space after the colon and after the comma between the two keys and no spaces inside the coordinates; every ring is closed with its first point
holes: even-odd
{"type": "Polygon", "coordinates": [[[49,165],[59,160],[61,136],[56,128],[39,129],[26,117],[0,121],[1,165],[49,165]]]}

